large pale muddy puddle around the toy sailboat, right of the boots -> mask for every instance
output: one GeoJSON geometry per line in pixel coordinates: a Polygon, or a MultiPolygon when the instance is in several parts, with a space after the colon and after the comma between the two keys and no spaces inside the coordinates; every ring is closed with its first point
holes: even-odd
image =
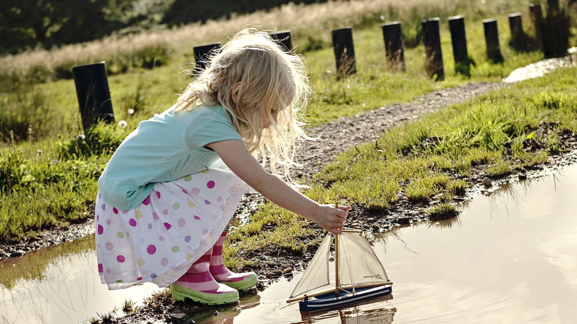
{"type": "MultiPolygon", "coordinates": [[[[577,165],[475,197],[456,219],[374,245],[393,298],[306,314],[283,279],[197,323],[576,323],[577,165]]],[[[298,280],[300,276],[295,276],[298,280]]]]}

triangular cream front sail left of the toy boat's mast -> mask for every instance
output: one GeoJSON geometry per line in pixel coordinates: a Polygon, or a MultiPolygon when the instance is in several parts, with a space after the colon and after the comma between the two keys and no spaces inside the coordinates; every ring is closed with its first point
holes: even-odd
{"type": "Polygon", "coordinates": [[[334,287],[329,283],[328,272],[328,254],[331,249],[331,239],[331,233],[328,233],[327,236],[325,236],[323,243],[321,243],[319,249],[314,254],[313,259],[310,261],[309,266],[306,268],[306,271],[298,282],[297,287],[295,287],[293,293],[291,293],[291,298],[304,295],[305,293],[317,288],[325,286],[334,287]]]}

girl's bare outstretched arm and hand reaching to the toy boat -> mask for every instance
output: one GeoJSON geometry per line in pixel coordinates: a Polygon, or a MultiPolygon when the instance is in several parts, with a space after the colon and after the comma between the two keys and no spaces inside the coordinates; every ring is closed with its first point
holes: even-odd
{"type": "Polygon", "coordinates": [[[336,209],[332,205],[321,205],[299,193],[282,179],[267,172],[241,141],[219,141],[206,146],[213,149],[234,174],[265,198],[314,221],[331,233],[342,232],[350,206],[336,209]]]}

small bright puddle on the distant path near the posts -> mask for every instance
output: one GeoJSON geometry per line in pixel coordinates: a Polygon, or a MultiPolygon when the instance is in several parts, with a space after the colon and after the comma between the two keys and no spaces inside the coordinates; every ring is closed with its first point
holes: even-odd
{"type": "Polygon", "coordinates": [[[558,67],[577,66],[577,47],[572,47],[567,50],[569,55],[562,58],[544,59],[542,61],[519,67],[503,79],[503,82],[517,82],[529,80],[537,77],[542,77],[546,73],[557,69],[558,67]]]}

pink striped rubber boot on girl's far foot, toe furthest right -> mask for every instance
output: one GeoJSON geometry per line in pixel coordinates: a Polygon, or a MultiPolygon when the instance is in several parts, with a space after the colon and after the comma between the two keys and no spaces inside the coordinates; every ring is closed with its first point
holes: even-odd
{"type": "MultiPolygon", "coordinates": [[[[230,223],[228,223],[228,225],[230,225],[230,223]]],[[[220,234],[220,238],[212,247],[211,266],[209,268],[212,277],[221,284],[225,284],[228,287],[238,290],[246,290],[256,286],[258,279],[254,272],[234,273],[224,266],[222,259],[222,246],[227,233],[228,226],[224,229],[224,232],[220,234]]]]}

